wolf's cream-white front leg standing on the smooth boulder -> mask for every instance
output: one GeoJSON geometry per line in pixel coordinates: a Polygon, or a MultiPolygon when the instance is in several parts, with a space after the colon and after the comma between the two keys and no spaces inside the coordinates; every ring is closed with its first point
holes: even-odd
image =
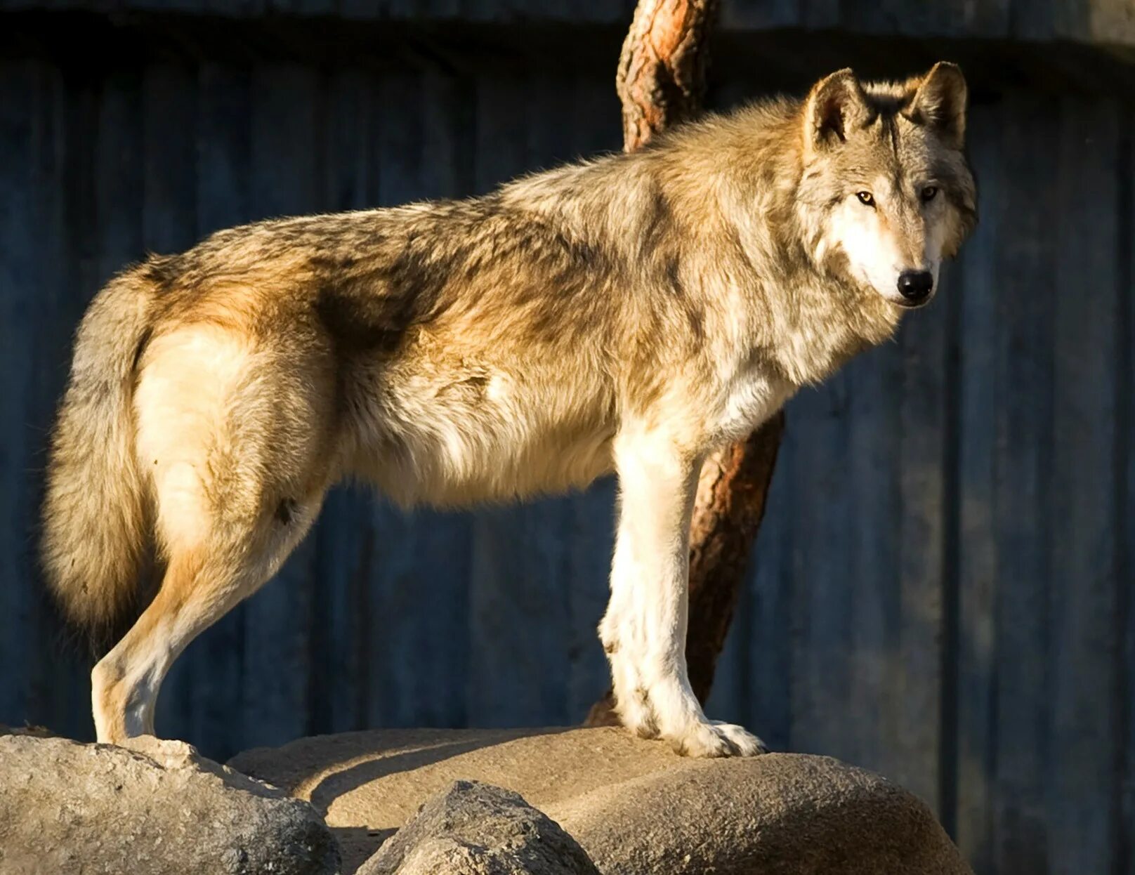
{"type": "Polygon", "coordinates": [[[701,460],[656,432],[615,441],[620,512],[599,637],[623,725],[695,757],[751,756],[760,740],[706,720],[686,671],[690,514],[701,460]]]}

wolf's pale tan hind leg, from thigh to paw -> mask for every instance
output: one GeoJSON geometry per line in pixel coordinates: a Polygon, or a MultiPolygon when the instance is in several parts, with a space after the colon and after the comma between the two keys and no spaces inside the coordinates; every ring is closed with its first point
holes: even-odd
{"type": "Polygon", "coordinates": [[[99,741],[153,732],[174,659],[276,573],[318,514],[334,382],[312,348],[257,350],[208,326],[151,344],[135,396],[137,452],[166,573],[91,673],[99,741]]]}

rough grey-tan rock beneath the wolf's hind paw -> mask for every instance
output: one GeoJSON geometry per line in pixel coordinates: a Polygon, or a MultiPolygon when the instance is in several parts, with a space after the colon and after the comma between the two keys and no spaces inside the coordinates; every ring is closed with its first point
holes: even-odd
{"type": "Polygon", "coordinates": [[[5,875],[338,870],[338,848],[310,805],[184,742],[0,737],[5,875]]]}

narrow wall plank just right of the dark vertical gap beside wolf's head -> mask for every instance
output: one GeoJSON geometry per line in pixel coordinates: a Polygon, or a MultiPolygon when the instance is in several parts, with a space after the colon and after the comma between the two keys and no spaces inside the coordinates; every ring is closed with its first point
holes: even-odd
{"type": "MultiPolygon", "coordinates": [[[[995,259],[1002,199],[1000,113],[970,115],[982,219],[962,250],[958,394],[958,771],[956,840],[976,872],[993,873],[997,738],[997,443],[1000,327],[995,259]]],[[[949,727],[947,727],[949,731],[949,727]]]]}

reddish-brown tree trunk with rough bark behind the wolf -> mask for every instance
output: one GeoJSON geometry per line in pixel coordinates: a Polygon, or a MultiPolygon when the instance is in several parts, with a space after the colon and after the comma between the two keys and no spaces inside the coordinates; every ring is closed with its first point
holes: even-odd
{"type": "MultiPolygon", "coordinates": [[[[717,0],[639,0],[619,58],[623,149],[632,152],[664,128],[701,110],[707,43],[717,0]]],[[[749,550],[760,528],[776,451],[784,431],[777,413],[748,439],[706,460],[690,525],[690,607],[686,662],[704,704],[733,619],[749,550]]],[[[588,725],[619,723],[611,691],[588,725]]]]}

